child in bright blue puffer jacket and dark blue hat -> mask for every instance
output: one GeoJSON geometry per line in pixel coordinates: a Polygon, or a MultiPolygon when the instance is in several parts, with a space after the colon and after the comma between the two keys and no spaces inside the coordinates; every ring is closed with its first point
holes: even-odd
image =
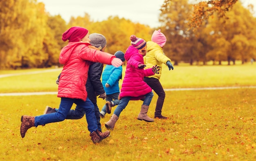
{"type": "MultiPolygon", "coordinates": [[[[117,51],[115,56],[121,59],[124,64],[124,52],[117,51]]],[[[102,73],[102,84],[107,94],[106,104],[102,107],[100,112],[102,118],[105,117],[106,113],[110,114],[111,108],[118,105],[120,102],[118,99],[120,94],[119,80],[122,78],[122,71],[122,66],[114,67],[113,65],[106,65],[102,73]]]]}

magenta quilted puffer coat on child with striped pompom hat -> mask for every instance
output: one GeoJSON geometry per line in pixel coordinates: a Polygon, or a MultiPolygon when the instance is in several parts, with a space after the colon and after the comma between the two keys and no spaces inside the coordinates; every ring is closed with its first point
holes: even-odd
{"type": "Polygon", "coordinates": [[[148,94],[152,89],[143,81],[144,76],[154,75],[150,69],[139,69],[139,64],[144,64],[143,55],[139,54],[139,50],[129,46],[124,54],[127,61],[125,76],[121,88],[120,99],[130,96],[131,100],[140,100],[145,94],[148,94]]]}

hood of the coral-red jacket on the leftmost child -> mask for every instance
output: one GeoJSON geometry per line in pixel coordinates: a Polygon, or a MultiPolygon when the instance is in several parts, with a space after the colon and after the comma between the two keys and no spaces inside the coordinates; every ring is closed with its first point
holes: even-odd
{"type": "Polygon", "coordinates": [[[64,48],[61,49],[61,54],[60,54],[60,57],[59,57],[59,62],[61,64],[66,64],[67,61],[69,60],[70,55],[71,55],[72,51],[74,50],[74,48],[76,46],[78,46],[78,45],[81,45],[81,44],[85,44],[87,46],[90,45],[89,43],[83,43],[83,42],[69,42],[67,44],[67,46],[65,46],[64,48]]]}

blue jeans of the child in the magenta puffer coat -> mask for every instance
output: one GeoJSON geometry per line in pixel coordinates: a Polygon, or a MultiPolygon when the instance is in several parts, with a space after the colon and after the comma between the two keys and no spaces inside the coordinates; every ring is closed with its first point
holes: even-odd
{"type": "MultiPolygon", "coordinates": [[[[154,96],[154,94],[152,91],[149,92],[148,94],[146,94],[143,104],[149,106],[153,96],[154,96]]],[[[123,97],[121,99],[121,101],[117,105],[117,108],[114,111],[114,114],[117,115],[117,117],[119,117],[120,113],[126,108],[128,102],[130,101],[131,98],[132,97],[123,97]]]]}

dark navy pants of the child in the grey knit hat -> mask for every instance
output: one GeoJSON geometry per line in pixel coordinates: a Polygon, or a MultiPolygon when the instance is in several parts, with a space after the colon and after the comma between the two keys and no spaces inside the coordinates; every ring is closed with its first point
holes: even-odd
{"type": "MultiPolygon", "coordinates": [[[[94,113],[96,116],[96,120],[97,120],[97,129],[99,131],[101,131],[101,117],[99,117],[99,107],[97,105],[97,103],[92,103],[94,105],[94,113]]],[[[56,111],[58,111],[58,109],[56,109],[56,111]]],[[[66,119],[71,119],[71,120],[78,120],[81,119],[85,114],[85,109],[83,109],[83,107],[79,107],[76,106],[76,109],[71,109],[68,114],[66,119]]]]}

